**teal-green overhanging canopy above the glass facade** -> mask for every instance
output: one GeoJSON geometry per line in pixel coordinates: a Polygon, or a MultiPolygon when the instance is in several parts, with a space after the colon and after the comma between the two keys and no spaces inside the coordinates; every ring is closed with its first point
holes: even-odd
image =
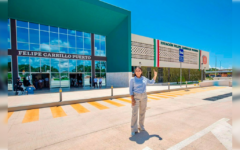
{"type": "Polygon", "coordinates": [[[129,11],[98,0],[9,0],[9,17],[107,35],[129,11]]]}

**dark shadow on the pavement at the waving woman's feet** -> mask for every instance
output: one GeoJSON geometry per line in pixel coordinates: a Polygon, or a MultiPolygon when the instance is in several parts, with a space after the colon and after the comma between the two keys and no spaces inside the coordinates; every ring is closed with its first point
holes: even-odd
{"type": "Polygon", "coordinates": [[[134,136],[130,137],[129,139],[131,141],[135,141],[138,144],[143,144],[145,141],[149,140],[150,138],[156,137],[159,140],[162,140],[162,138],[159,135],[153,134],[149,135],[147,131],[141,131],[134,136]]]}

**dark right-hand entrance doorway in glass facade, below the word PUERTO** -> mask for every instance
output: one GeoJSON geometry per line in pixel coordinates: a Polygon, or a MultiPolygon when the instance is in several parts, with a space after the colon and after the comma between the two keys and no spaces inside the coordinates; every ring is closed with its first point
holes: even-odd
{"type": "Polygon", "coordinates": [[[84,74],[82,73],[70,73],[70,87],[83,87],[84,86],[84,74]]]}

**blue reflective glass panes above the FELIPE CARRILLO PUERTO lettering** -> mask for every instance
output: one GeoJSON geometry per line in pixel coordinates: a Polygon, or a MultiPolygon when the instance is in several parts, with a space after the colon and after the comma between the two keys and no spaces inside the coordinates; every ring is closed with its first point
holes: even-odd
{"type": "MultiPolygon", "coordinates": [[[[17,21],[17,24],[19,25],[17,26],[19,50],[91,55],[91,33],[23,21],[17,21]]],[[[10,49],[10,25],[8,30],[8,47],[10,49]]],[[[104,50],[104,45],[101,49],[101,36],[96,35],[95,38],[99,39],[96,49],[104,50]]],[[[99,52],[98,56],[101,55],[104,55],[104,52],[99,52]]]]}

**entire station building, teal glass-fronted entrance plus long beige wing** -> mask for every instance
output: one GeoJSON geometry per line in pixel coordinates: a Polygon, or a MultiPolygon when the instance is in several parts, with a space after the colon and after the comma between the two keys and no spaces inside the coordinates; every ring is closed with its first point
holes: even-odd
{"type": "Polygon", "coordinates": [[[99,0],[8,5],[9,90],[18,77],[42,79],[50,90],[89,87],[95,76],[103,86],[126,87],[136,66],[148,78],[158,71],[156,82],[175,81],[180,48],[186,80],[198,80],[209,66],[208,52],[131,34],[131,12],[99,0]]]}

